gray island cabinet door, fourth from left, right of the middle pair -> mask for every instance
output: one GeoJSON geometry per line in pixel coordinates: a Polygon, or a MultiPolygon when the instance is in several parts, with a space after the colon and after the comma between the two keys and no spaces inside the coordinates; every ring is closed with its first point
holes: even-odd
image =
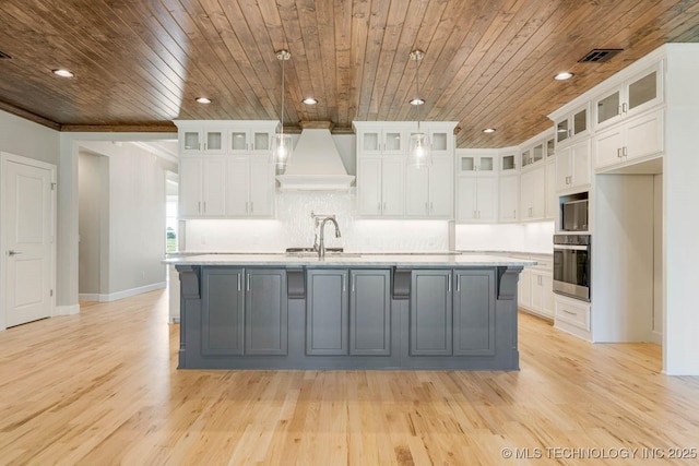
{"type": "Polygon", "coordinates": [[[350,354],[390,356],[390,271],[352,271],[350,282],[350,354]]]}

